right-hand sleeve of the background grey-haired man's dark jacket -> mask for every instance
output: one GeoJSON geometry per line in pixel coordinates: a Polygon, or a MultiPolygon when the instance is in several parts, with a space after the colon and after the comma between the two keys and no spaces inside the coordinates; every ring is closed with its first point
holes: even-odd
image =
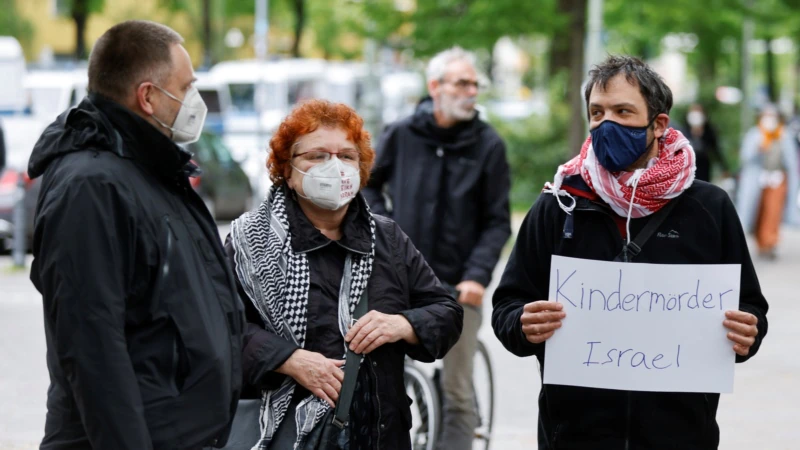
{"type": "Polygon", "coordinates": [[[511,176],[506,160],[506,147],[502,140],[491,149],[482,174],[480,211],[483,217],[480,238],[465,263],[463,280],[477,281],[488,286],[492,280],[500,253],[511,236],[511,212],[508,193],[511,176]]]}

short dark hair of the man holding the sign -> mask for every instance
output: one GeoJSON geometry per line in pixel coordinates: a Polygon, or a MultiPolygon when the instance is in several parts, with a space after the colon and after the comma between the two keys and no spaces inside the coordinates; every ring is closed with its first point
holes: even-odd
{"type": "Polygon", "coordinates": [[[609,56],[602,63],[594,66],[589,71],[589,82],[586,83],[584,96],[586,98],[586,114],[589,111],[589,97],[592,89],[599,86],[606,89],[608,82],[619,74],[625,75],[625,80],[631,85],[638,85],[644,101],[647,103],[647,120],[652,120],[659,114],[669,114],[672,109],[672,90],[650,66],[641,59],[633,56],[609,56]]]}

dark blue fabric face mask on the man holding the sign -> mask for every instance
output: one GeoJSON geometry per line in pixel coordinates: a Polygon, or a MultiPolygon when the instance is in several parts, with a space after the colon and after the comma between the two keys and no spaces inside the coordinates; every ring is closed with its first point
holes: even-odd
{"type": "Polygon", "coordinates": [[[647,129],[654,120],[655,117],[644,127],[628,127],[604,120],[591,130],[592,148],[600,165],[609,172],[619,172],[638,161],[653,143],[647,143],[647,129]]]}

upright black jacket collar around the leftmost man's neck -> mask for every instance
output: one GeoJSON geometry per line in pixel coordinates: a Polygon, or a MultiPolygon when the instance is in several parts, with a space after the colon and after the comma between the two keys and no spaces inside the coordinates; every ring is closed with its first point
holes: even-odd
{"type": "MultiPolygon", "coordinates": [[[[134,114],[128,108],[99,94],[90,94],[89,99],[105,114],[122,138],[122,146],[114,149],[120,156],[135,159],[148,166],[158,175],[174,178],[185,174],[185,167],[192,154],[176,145],[155,126],[134,114]]],[[[191,171],[189,167],[189,171],[191,171]]]]}

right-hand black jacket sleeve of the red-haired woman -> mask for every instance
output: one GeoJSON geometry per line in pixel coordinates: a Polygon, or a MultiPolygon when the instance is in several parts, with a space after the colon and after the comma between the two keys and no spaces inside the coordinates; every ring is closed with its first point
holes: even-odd
{"type": "Polygon", "coordinates": [[[464,310],[436,278],[411,239],[397,224],[393,225],[395,258],[405,266],[410,294],[410,308],[401,314],[419,339],[419,344],[406,346],[406,353],[417,361],[432,362],[444,358],[461,337],[464,310]]]}

